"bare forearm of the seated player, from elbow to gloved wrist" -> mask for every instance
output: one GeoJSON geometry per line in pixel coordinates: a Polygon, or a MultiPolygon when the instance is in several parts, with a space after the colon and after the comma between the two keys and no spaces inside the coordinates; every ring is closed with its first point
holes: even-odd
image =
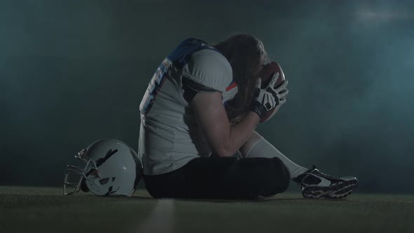
{"type": "Polygon", "coordinates": [[[248,140],[255,127],[258,125],[260,118],[258,114],[249,112],[239,123],[234,124],[229,129],[229,136],[224,147],[218,152],[220,157],[230,157],[235,154],[239,148],[248,140]]]}

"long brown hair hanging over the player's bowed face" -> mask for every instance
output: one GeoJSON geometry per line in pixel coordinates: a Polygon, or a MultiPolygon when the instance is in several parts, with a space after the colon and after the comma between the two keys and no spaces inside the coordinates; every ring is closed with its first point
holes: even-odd
{"type": "Polygon", "coordinates": [[[267,53],[262,41],[251,34],[235,34],[213,47],[232,65],[233,80],[237,84],[238,92],[225,107],[229,121],[234,123],[250,109],[260,62],[262,58],[267,62],[267,53]]]}

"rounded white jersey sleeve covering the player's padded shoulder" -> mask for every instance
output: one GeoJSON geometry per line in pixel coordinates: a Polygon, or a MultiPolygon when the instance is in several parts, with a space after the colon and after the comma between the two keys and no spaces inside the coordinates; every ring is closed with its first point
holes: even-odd
{"type": "Polygon", "coordinates": [[[220,92],[224,92],[233,79],[232,66],[227,59],[211,49],[194,53],[182,68],[182,75],[201,86],[220,92]]]}

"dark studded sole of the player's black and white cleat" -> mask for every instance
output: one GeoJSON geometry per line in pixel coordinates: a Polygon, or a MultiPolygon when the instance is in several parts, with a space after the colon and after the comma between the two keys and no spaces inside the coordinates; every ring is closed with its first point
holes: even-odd
{"type": "Polygon", "coordinates": [[[309,185],[302,189],[302,196],[310,199],[342,199],[352,194],[355,187],[358,186],[358,180],[348,180],[335,186],[320,187],[309,185]]]}

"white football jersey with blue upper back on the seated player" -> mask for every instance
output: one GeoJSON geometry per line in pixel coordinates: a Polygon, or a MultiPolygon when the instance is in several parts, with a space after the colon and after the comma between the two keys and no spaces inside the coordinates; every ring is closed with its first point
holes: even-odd
{"type": "Polygon", "coordinates": [[[220,91],[223,103],[237,93],[232,67],[218,51],[196,51],[182,69],[167,58],[163,65],[154,74],[140,105],[138,156],[142,158],[145,175],[168,173],[192,159],[211,155],[194,111],[183,98],[183,78],[220,91]],[[163,65],[170,68],[163,68],[163,65]],[[163,71],[165,78],[159,79],[156,75],[162,75],[163,71]],[[158,85],[157,88],[154,85],[158,85]],[[148,98],[152,98],[150,104],[148,98]]]}

